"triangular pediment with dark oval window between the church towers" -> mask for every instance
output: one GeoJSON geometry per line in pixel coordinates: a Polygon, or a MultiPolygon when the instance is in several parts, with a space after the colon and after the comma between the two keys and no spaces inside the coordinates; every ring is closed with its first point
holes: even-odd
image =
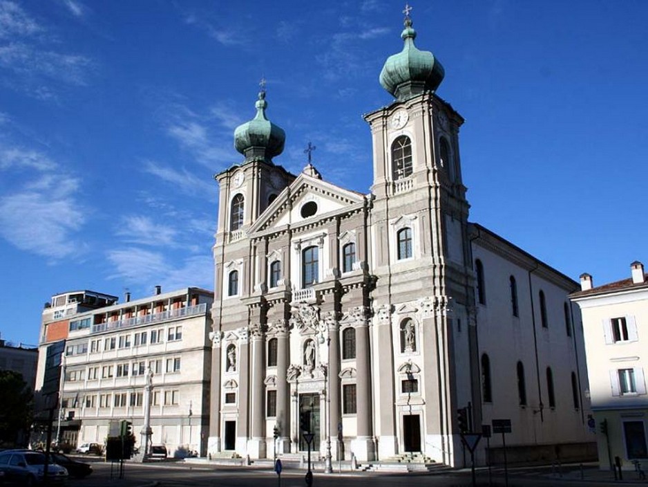
{"type": "Polygon", "coordinates": [[[250,227],[248,235],[287,225],[298,226],[301,222],[347,212],[356,205],[362,205],[364,199],[363,194],[302,173],[269,205],[250,227]]]}

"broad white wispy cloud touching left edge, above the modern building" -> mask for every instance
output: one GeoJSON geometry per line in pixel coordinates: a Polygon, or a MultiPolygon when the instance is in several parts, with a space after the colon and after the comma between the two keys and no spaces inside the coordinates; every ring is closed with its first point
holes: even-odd
{"type": "Polygon", "coordinates": [[[85,222],[75,201],[78,181],[43,176],[32,187],[0,198],[0,235],[21,250],[61,259],[79,252],[73,233],[85,222]]]}

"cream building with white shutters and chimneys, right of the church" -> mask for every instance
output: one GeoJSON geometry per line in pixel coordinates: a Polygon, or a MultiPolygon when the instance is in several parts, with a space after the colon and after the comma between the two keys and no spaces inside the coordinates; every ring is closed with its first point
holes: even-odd
{"type": "Polygon", "coordinates": [[[597,431],[601,468],[620,457],[625,469],[648,461],[648,281],[644,266],[631,264],[631,277],[593,286],[583,274],[580,307],[585,329],[592,427],[597,431]]]}

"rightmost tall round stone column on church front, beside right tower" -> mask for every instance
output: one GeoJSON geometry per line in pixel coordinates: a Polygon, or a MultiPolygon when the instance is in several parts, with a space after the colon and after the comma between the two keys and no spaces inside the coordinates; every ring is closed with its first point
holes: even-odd
{"type": "Polygon", "coordinates": [[[356,324],[356,422],[358,434],[351,442],[356,459],[370,461],[375,457],[372,434],[371,366],[369,349],[369,326],[365,307],[358,309],[356,324]]]}

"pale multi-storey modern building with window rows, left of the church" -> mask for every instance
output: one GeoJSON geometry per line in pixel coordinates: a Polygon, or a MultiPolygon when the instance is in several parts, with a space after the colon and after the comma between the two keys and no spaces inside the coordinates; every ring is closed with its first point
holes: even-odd
{"type": "MultiPolygon", "coordinates": [[[[66,293],[70,294],[70,293],[66,293]]],[[[56,297],[55,297],[56,298],[56,297]]],[[[183,288],[91,311],[44,313],[39,384],[48,347],[62,351],[55,437],[62,443],[103,444],[111,421],[127,419],[140,441],[146,378],[151,370],[152,443],[169,454],[206,452],[213,293],[183,288]],[[50,329],[53,327],[54,329],[50,329]],[[48,338],[51,338],[48,339],[48,338]]]]}

